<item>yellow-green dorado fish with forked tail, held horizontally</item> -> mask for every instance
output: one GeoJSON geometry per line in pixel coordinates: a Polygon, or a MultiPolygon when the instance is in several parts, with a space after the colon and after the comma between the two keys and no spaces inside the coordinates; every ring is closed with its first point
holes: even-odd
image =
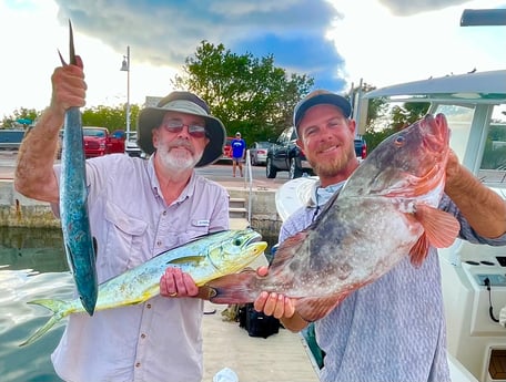
{"type": "MultiPolygon", "coordinates": [[[[168,267],[179,267],[190,273],[199,287],[216,277],[240,271],[267,247],[267,244],[259,241],[260,239],[261,235],[252,229],[225,230],[196,238],[181,247],[162,252],[102,282],[99,286],[95,310],[136,304],[159,295],[160,278],[168,267]]],[[[38,340],[64,317],[83,312],[78,299],[69,301],[41,299],[29,303],[45,307],[53,311],[53,316],[20,345],[38,340]]]]}

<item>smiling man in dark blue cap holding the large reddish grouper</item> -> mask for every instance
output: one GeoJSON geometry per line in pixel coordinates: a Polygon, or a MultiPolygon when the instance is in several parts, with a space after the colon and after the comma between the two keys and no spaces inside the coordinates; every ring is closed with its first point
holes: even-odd
{"type": "MultiPolygon", "coordinates": [[[[346,99],[324,90],[310,93],[296,105],[293,123],[297,144],[320,183],[308,205],[283,223],[280,242],[311,225],[358,167],[351,113],[346,99]]],[[[439,208],[458,219],[462,239],[506,245],[506,204],[454,154],[446,166],[445,193],[439,208]]],[[[265,276],[267,269],[257,272],[265,276]]],[[[431,247],[419,268],[406,256],[389,272],[350,293],[328,316],[312,323],[324,354],[320,380],[449,381],[442,300],[437,250],[431,247]]],[[[310,324],[297,313],[295,301],[285,296],[263,291],[254,306],[281,319],[292,331],[310,324]]]]}

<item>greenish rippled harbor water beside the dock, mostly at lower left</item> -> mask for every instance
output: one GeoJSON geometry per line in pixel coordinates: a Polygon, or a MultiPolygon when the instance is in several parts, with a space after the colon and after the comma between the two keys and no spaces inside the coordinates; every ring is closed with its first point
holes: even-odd
{"type": "MultiPolygon", "coordinates": [[[[264,237],[275,244],[275,237],[264,237]]],[[[27,302],[40,298],[69,299],[73,279],[68,271],[59,229],[0,228],[0,381],[57,382],[50,355],[67,320],[40,340],[19,344],[45,323],[49,310],[27,302]]],[[[266,250],[269,254],[269,248],[266,250]]]]}

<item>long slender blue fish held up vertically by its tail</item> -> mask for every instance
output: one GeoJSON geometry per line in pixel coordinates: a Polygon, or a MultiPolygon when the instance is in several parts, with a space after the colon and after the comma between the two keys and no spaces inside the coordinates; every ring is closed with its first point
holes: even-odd
{"type": "MultiPolygon", "coordinates": [[[[72,24],[70,29],[70,64],[75,64],[72,24]]],[[[60,59],[63,61],[61,54],[60,59]]],[[[81,112],[65,112],[61,153],[60,217],[67,260],[73,275],[82,306],[92,316],[97,303],[98,279],[95,245],[88,216],[88,189],[81,112]]]]}

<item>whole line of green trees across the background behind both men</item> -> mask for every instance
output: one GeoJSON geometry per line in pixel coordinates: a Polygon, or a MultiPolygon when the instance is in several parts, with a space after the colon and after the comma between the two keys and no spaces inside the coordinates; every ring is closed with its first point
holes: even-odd
{"type": "MultiPolygon", "coordinates": [[[[188,90],[203,97],[212,114],[225,125],[227,135],[233,136],[239,131],[247,143],[275,140],[292,124],[296,103],[314,86],[312,76],[289,73],[276,66],[273,54],[262,58],[247,52],[236,54],[223,44],[215,45],[205,40],[185,59],[181,74],[170,82],[174,89],[188,90]]],[[[362,91],[374,89],[364,84],[362,91]]],[[[377,128],[377,121],[387,109],[383,101],[372,100],[364,134],[370,151],[387,135],[418,120],[427,107],[428,104],[397,106],[392,110],[392,124],[377,128]]],[[[136,130],[140,109],[140,105],[130,105],[132,131],[136,130]]],[[[12,115],[3,117],[1,125],[4,128],[19,126],[19,121],[36,121],[41,113],[33,109],[16,110],[12,115]]],[[[82,122],[89,126],[105,126],[113,132],[124,128],[125,114],[125,105],[91,106],[82,110],[82,122]]]]}

